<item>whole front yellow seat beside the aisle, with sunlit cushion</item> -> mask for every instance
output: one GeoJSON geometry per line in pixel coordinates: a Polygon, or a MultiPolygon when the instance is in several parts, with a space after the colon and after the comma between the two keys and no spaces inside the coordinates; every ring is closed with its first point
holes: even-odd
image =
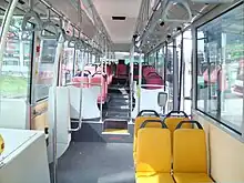
{"type": "Polygon", "coordinates": [[[136,183],[174,182],[171,176],[171,132],[162,129],[164,123],[159,124],[161,128],[142,126],[138,132],[136,183]]]}

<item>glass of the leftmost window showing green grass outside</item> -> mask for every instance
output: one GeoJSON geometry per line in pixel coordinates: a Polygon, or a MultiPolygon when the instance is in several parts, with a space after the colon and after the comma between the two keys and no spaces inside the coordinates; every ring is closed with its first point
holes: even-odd
{"type": "MultiPolygon", "coordinates": [[[[23,98],[29,94],[32,34],[22,39],[22,18],[14,17],[9,28],[1,70],[1,98],[23,98]]],[[[30,26],[30,24],[29,24],[30,26]]]]}

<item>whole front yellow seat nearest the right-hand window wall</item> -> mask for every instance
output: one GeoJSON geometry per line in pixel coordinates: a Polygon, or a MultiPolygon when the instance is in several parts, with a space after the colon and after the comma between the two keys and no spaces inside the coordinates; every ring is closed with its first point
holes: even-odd
{"type": "Polygon", "coordinates": [[[180,129],[181,122],[174,131],[173,140],[173,171],[176,183],[213,182],[207,175],[205,132],[195,121],[199,129],[180,129]]]}

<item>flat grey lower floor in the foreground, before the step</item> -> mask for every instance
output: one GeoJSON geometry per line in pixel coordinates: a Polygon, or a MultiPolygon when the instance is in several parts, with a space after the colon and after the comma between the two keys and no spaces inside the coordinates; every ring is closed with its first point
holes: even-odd
{"type": "Polygon", "coordinates": [[[134,183],[132,143],[71,142],[57,183],[134,183]]]}

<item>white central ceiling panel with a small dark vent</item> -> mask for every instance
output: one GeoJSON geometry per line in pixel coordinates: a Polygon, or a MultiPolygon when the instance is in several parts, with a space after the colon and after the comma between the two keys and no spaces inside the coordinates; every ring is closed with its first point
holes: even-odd
{"type": "Polygon", "coordinates": [[[113,43],[131,43],[142,0],[93,0],[113,43]],[[126,17],[124,21],[112,17],[126,17]]]}

